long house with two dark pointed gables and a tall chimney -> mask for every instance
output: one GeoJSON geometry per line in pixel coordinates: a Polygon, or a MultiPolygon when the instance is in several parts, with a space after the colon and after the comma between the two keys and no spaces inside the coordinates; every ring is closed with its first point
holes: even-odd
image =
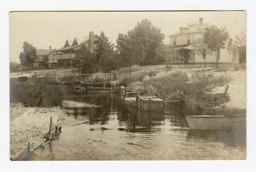
{"type": "Polygon", "coordinates": [[[85,45],[93,52],[98,41],[99,36],[94,32],[89,32],[89,36],[86,37],[74,38],[73,41],[67,39],[64,47],[52,51],[49,55],[48,68],[71,67],[72,59],[76,57],[82,45],[85,45]],[[72,42],[71,46],[70,42],[72,42]]]}

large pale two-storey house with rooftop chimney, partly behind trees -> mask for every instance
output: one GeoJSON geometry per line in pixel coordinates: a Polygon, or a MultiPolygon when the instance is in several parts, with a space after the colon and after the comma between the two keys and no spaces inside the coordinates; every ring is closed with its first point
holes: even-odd
{"type": "MultiPolygon", "coordinates": [[[[203,38],[205,28],[210,24],[204,23],[203,18],[199,18],[198,22],[189,23],[186,26],[180,26],[179,31],[174,32],[169,36],[170,49],[168,50],[167,62],[184,62],[187,64],[205,62],[202,55],[198,55],[195,50],[195,40],[203,38]]],[[[232,39],[228,39],[225,47],[220,50],[218,62],[239,62],[239,50],[230,50],[229,45],[232,45],[232,39]]],[[[216,55],[207,55],[206,62],[216,62],[216,55]]]]}

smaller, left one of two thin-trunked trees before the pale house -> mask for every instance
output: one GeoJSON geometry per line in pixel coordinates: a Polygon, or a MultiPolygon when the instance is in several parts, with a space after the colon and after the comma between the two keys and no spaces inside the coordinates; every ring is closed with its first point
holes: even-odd
{"type": "Polygon", "coordinates": [[[206,56],[212,54],[212,50],[207,47],[204,38],[198,38],[195,40],[196,54],[202,55],[204,59],[204,68],[206,68],[206,56]]]}

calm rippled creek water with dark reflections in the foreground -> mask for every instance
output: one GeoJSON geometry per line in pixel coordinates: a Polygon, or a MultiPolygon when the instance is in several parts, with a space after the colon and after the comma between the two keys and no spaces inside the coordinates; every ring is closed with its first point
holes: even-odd
{"type": "Polygon", "coordinates": [[[130,113],[118,95],[91,94],[77,101],[102,106],[67,111],[77,124],[27,160],[245,159],[245,131],[191,131],[177,114],[130,113]]]}

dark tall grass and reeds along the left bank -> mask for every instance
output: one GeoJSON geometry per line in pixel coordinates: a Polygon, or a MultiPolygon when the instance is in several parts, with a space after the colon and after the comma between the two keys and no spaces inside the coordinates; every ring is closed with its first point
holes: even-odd
{"type": "Polygon", "coordinates": [[[40,82],[18,82],[10,79],[10,102],[25,106],[52,107],[59,106],[63,97],[71,90],[65,85],[46,85],[40,82]]]}

